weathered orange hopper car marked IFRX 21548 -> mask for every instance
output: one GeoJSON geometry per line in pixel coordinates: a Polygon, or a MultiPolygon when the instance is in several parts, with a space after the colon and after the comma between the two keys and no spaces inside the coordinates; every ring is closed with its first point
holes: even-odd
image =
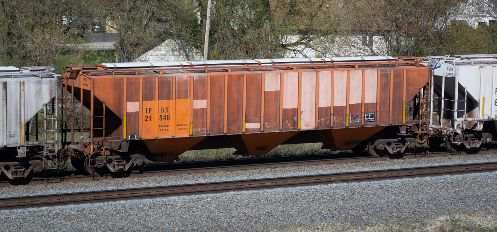
{"type": "Polygon", "coordinates": [[[282,143],[403,153],[422,119],[406,121],[406,103],[422,98],[429,75],[416,57],[68,66],[62,151],[90,173],[140,171],[145,157],[190,149],[264,155],[282,143]]]}

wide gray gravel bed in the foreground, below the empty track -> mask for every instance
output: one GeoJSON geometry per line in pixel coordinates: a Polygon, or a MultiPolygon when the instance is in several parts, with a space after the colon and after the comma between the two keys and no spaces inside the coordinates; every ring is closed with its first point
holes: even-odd
{"type": "Polygon", "coordinates": [[[30,208],[1,211],[0,230],[436,231],[451,215],[493,227],[496,186],[492,172],[30,208]]]}

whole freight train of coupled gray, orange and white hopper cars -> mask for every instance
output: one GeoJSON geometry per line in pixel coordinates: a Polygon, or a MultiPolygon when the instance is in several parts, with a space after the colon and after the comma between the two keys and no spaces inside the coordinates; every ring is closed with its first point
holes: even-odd
{"type": "Polygon", "coordinates": [[[497,55],[333,57],[0,67],[0,173],[89,174],[235,148],[323,143],[370,155],[419,144],[486,149],[497,136],[497,55]]]}

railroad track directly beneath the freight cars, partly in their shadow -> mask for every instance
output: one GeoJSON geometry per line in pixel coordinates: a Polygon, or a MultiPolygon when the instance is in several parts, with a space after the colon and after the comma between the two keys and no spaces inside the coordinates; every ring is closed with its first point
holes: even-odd
{"type": "Polygon", "coordinates": [[[174,164],[158,164],[147,166],[142,173],[103,173],[101,175],[84,175],[78,171],[57,171],[47,172],[45,178],[41,179],[23,179],[23,180],[8,180],[2,179],[0,186],[10,185],[31,185],[31,184],[50,184],[62,183],[71,181],[89,181],[89,180],[110,180],[115,178],[127,177],[148,177],[158,175],[177,175],[191,173],[205,173],[218,171],[240,171],[253,170],[264,168],[277,168],[288,166],[305,166],[305,165],[325,165],[338,163],[355,163],[364,161],[382,161],[398,158],[420,158],[420,157],[435,157],[449,155],[468,155],[482,152],[497,152],[497,144],[492,144],[489,150],[466,150],[460,152],[448,152],[443,148],[429,149],[420,148],[412,155],[385,155],[382,157],[372,157],[365,152],[361,153],[337,153],[337,154],[320,154],[320,155],[298,155],[286,157],[271,157],[271,158],[251,158],[251,159],[236,159],[222,160],[211,162],[192,162],[192,163],[174,163],[174,164]]]}

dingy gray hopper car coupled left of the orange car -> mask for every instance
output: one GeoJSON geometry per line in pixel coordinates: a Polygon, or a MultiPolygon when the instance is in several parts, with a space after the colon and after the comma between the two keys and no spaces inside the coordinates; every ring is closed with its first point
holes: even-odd
{"type": "Polygon", "coordinates": [[[44,159],[55,157],[57,78],[52,70],[0,67],[0,173],[10,179],[41,177],[44,159]]]}

